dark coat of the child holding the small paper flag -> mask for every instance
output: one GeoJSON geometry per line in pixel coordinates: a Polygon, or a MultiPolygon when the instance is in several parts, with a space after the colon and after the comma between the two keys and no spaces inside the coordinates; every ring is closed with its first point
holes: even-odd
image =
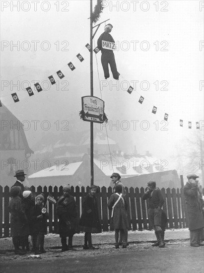
{"type": "Polygon", "coordinates": [[[43,205],[35,205],[31,208],[31,234],[43,233],[47,234],[47,219],[49,214],[42,213],[43,205]],[[37,219],[38,215],[43,215],[43,218],[37,219]]]}

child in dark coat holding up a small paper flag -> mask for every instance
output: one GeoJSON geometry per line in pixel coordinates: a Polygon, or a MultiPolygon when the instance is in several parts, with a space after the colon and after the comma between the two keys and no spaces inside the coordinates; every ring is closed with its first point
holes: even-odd
{"type": "Polygon", "coordinates": [[[36,196],[36,205],[31,209],[32,234],[33,240],[36,241],[35,255],[45,253],[44,238],[47,234],[48,213],[42,212],[44,196],[42,194],[36,196]],[[40,250],[39,250],[40,247],[40,250]]]}

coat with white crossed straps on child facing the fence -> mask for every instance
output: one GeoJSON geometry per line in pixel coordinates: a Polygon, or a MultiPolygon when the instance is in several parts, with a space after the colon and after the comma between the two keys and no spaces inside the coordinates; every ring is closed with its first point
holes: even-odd
{"type": "Polygon", "coordinates": [[[129,228],[128,216],[127,216],[128,203],[124,195],[122,195],[122,198],[120,198],[119,202],[115,205],[114,208],[113,208],[113,205],[119,199],[119,196],[117,194],[112,194],[108,201],[108,208],[111,210],[113,209],[113,217],[111,217],[110,225],[111,225],[111,228],[114,228],[114,229],[129,228]]]}

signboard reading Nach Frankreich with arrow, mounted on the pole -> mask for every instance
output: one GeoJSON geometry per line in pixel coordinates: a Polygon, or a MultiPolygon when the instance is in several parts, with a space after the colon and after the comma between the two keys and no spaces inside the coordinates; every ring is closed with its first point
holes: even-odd
{"type": "Polygon", "coordinates": [[[103,123],[104,101],[93,96],[81,97],[83,121],[103,123]]]}

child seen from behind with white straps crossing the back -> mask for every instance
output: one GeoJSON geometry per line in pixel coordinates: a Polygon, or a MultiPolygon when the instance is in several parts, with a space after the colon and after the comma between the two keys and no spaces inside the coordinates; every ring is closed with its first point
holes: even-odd
{"type": "Polygon", "coordinates": [[[128,216],[127,209],[128,203],[126,201],[126,197],[122,195],[122,186],[115,186],[115,193],[111,195],[108,201],[108,208],[112,209],[111,214],[111,226],[115,229],[115,240],[116,240],[116,248],[119,248],[119,231],[122,235],[123,240],[123,248],[127,247],[127,238],[125,231],[128,230],[128,216]]]}

